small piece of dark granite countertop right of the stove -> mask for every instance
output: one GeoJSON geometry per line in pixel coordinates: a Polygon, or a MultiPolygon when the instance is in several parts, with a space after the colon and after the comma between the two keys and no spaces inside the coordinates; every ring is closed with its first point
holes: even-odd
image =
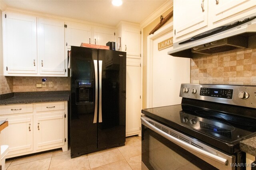
{"type": "Polygon", "coordinates": [[[256,136],[240,142],[240,150],[256,156],[256,136]]]}

